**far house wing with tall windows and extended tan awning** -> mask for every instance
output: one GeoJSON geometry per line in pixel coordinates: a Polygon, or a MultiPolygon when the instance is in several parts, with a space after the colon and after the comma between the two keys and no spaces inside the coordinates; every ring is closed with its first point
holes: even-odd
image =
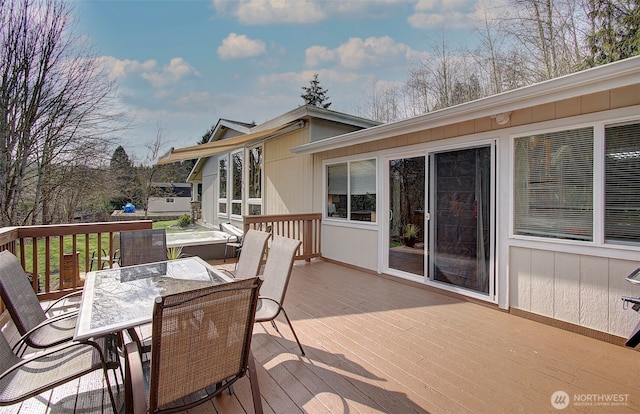
{"type": "Polygon", "coordinates": [[[379,123],[304,105],[260,125],[221,119],[206,144],[174,149],[159,163],[197,159],[187,181],[200,221],[242,226],[243,215],[309,213],[313,157],[290,149],[379,123]]]}

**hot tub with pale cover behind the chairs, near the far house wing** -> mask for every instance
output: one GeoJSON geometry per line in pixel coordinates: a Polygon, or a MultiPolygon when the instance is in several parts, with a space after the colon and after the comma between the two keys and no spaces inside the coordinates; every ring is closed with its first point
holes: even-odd
{"type": "MultiPolygon", "coordinates": [[[[224,258],[224,249],[227,241],[236,241],[234,236],[218,231],[197,231],[182,233],[167,233],[167,248],[181,247],[182,253],[189,256],[199,256],[204,260],[224,258]]],[[[227,252],[228,257],[233,257],[233,249],[227,252]]]]}

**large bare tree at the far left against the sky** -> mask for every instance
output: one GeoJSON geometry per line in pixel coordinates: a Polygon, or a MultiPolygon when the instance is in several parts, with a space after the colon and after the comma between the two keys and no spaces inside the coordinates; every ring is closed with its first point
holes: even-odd
{"type": "Polygon", "coordinates": [[[113,84],[63,0],[0,6],[0,223],[46,223],[58,173],[99,164],[118,129],[113,84]]]}

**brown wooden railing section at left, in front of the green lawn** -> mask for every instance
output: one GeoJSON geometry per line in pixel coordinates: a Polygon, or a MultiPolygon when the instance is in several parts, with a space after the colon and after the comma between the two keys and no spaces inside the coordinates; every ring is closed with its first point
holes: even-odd
{"type": "MultiPolygon", "coordinates": [[[[114,234],[150,229],[151,220],[0,228],[0,250],[15,254],[40,300],[56,299],[82,288],[81,274],[113,257],[114,234]],[[35,275],[35,277],[34,277],[35,275]]],[[[112,266],[111,260],[109,266],[112,266]]],[[[4,305],[0,303],[0,314],[4,305]]]]}

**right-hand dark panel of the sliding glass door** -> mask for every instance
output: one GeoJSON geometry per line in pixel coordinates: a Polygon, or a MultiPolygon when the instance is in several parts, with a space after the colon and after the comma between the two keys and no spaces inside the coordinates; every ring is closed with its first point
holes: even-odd
{"type": "Polygon", "coordinates": [[[433,280],[489,294],[491,148],[432,155],[433,280]]]}

